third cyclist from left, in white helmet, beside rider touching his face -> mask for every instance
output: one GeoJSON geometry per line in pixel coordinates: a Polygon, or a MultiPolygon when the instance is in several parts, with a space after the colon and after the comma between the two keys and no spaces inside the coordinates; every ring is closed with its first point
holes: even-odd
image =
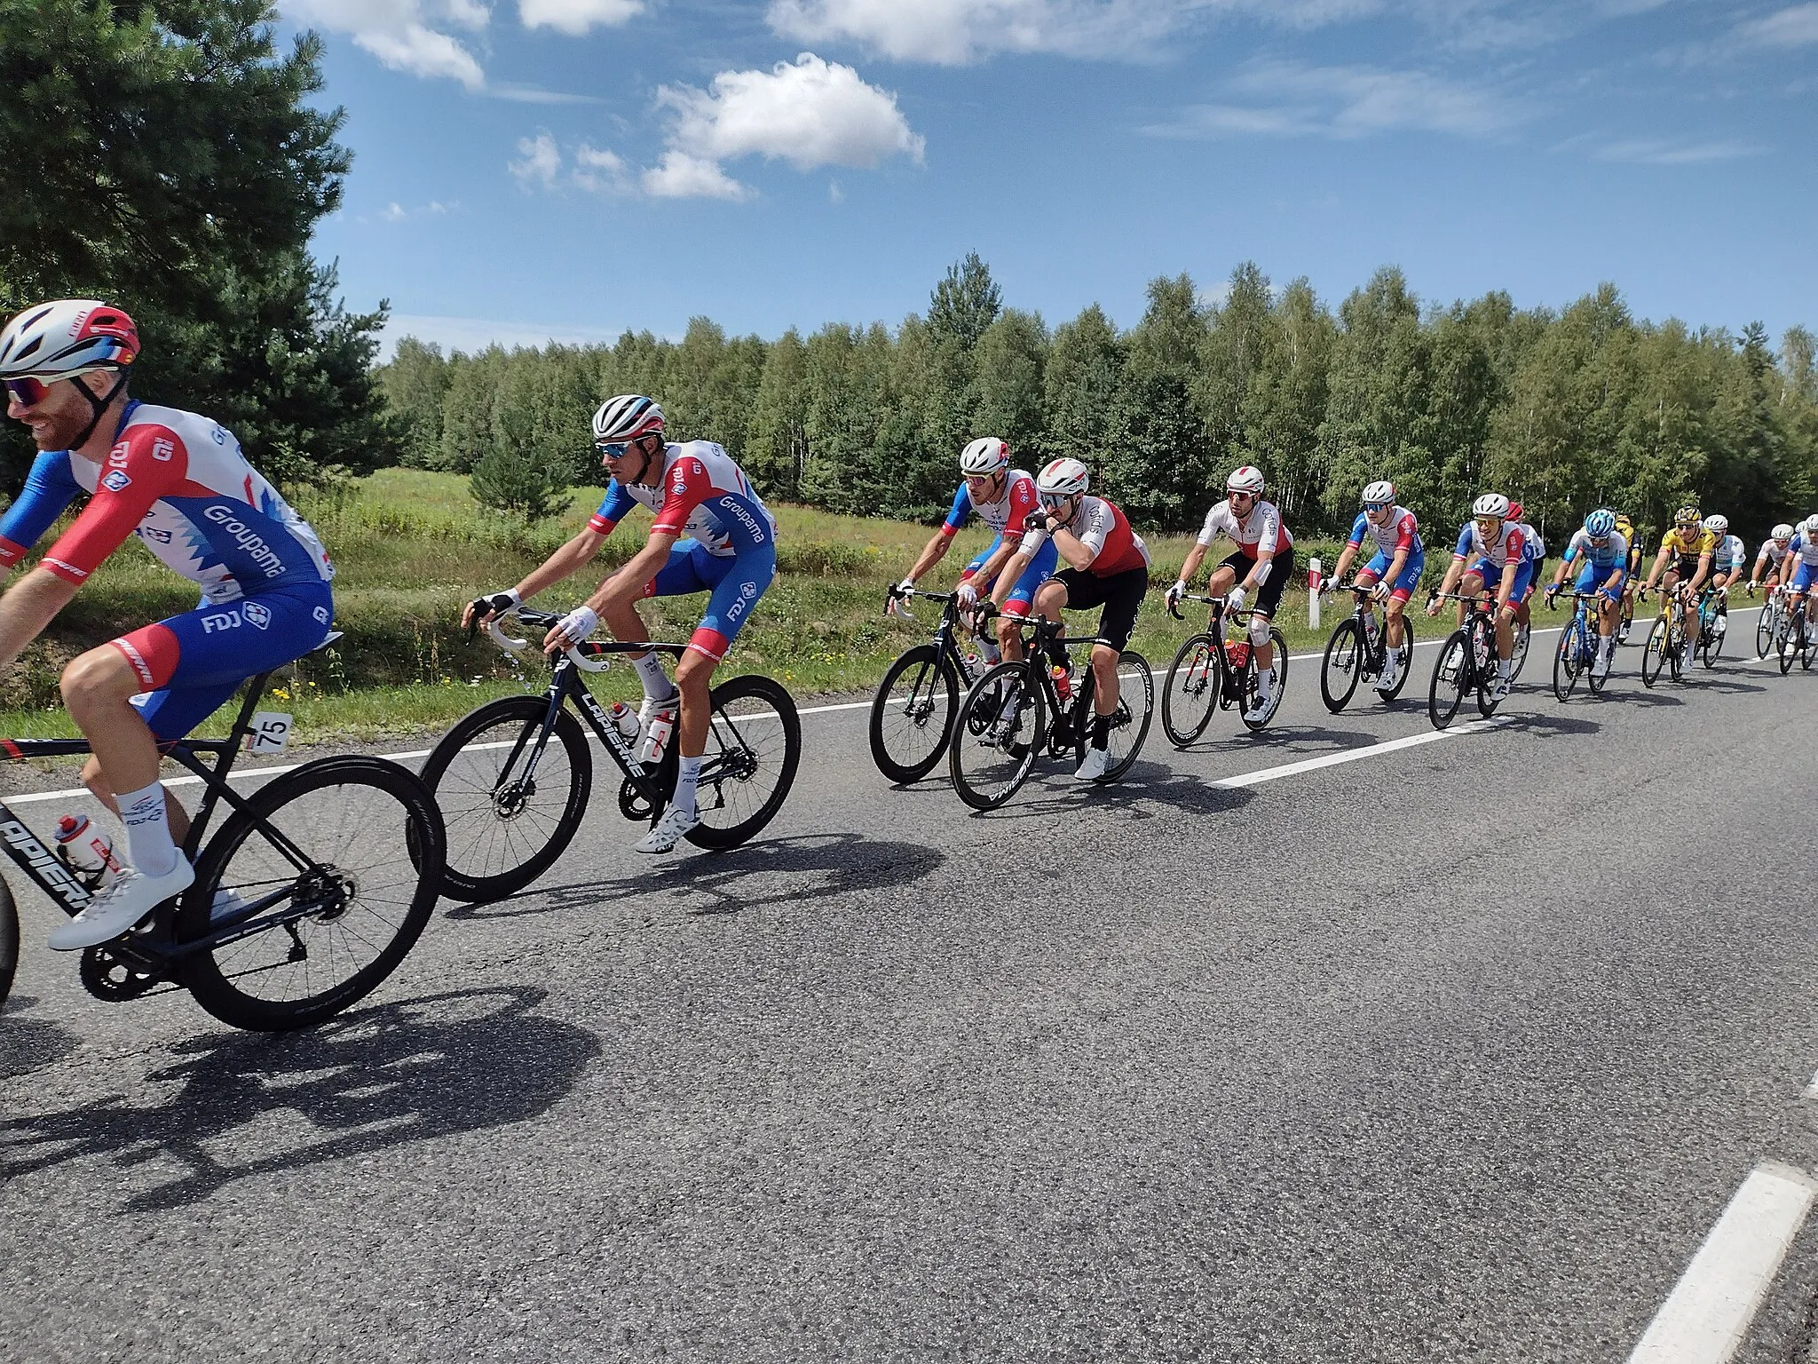
{"type": "MultiPolygon", "coordinates": [[[[985,526],[996,531],[996,538],[980,549],[971,564],[960,569],[960,586],[956,589],[960,606],[973,607],[978,604],[978,593],[989,593],[996,584],[998,573],[1011,562],[1016,546],[1022,544],[1022,527],[1029,520],[1029,515],[1038,509],[1040,500],[1036,498],[1034,478],[1022,469],[1011,467],[1011,447],[996,436],[980,436],[962,449],[960,473],[965,478],[960,484],[960,491],[953,495],[953,509],[947,513],[947,520],[934,531],[934,537],[922,549],[922,557],[916,558],[914,567],[909,569],[909,577],[898,584],[896,591],[913,591],[916,582],[947,557],[947,549],[953,547],[953,537],[965,526],[965,518],[976,511],[985,526]]],[[[1049,540],[1029,562],[1029,567],[1024,569],[1024,575],[1011,587],[1011,595],[1004,602],[1004,617],[998,620],[998,647],[1013,662],[1020,662],[1024,657],[1022,631],[1016,627],[1016,617],[1029,615],[1029,607],[1034,602],[1034,589],[1054,575],[1054,542],[1049,540]]],[[[894,598],[891,598],[891,609],[896,609],[894,598]]],[[[985,651],[985,660],[996,662],[991,657],[994,649],[989,640],[980,640],[980,646],[985,651]]]]}

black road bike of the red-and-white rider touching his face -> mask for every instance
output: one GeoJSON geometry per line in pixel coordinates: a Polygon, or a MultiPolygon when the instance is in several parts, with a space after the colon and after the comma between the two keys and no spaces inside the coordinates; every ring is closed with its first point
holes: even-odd
{"type": "MultiPolygon", "coordinates": [[[[984,618],[994,615],[989,606],[982,611],[984,618]]],[[[1071,695],[1065,695],[1047,669],[1047,657],[1058,646],[1104,640],[1069,637],[1065,626],[1047,617],[1022,617],[1018,624],[1029,631],[1025,657],[985,669],[960,702],[947,746],[953,789],[973,809],[996,809],[1016,795],[1042,753],[1071,757],[1078,771],[1093,737],[1096,675],[1087,666],[1076,684],[1067,684],[1071,695]]],[[[1134,649],[1118,655],[1118,707],[1109,718],[1111,766],[1096,778],[1098,786],[1129,771],[1154,718],[1154,675],[1134,649]]]]}

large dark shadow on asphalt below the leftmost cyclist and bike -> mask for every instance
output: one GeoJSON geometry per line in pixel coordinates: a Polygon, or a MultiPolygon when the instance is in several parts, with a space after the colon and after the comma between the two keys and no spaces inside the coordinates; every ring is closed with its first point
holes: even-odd
{"type": "Polygon", "coordinates": [[[0,1180],[84,1158],[120,1169],[176,1162],[184,1173],[122,1209],[158,1211],[253,1175],[525,1122],[569,1095],[600,1055],[593,1033],[534,1013],[545,997],[531,986],[462,989],[307,1033],[195,1038],[173,1048],[191,1060],[147,1077],[176,1084],[162,1102],[111,1095],[0,1122],[0,1180]],[[271,1120],[285,1109],[300,1122],[271,1120]]]}

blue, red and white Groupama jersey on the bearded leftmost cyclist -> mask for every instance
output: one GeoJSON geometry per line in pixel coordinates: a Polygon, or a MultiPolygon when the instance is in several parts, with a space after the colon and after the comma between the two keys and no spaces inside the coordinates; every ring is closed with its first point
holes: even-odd
{"type": "Polygon", "coordinates": [[[42,560],[82,584],[129,535],[220,606],[335,577],[322,540],[245,462],[220,424],[131,402],[105,464],[45,451],[0,518],[0,566],[13,567],[78,493],[89,506],[42,560]]]}

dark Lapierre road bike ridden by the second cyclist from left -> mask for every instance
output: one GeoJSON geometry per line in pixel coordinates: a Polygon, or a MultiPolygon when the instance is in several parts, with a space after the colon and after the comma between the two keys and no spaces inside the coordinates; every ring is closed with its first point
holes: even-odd
{"type": "MultiPolygon", "coordinates": [[[[505,613],[531,629],[562,620],[551,611],[514,607],[505,613]]],[[[487,635],[511,655],[529,649],[511,638],[500,618],[487,635]]],[[[618,813],[656,824],[676,786],[676,742],[653,764],[638,762],[636,735],[618,724],[587,689],[613,657],[664,653],[680,657],[685,644],[584,640],[554,662],[540,697],[502,697],[454,722],[424,762],[447,824],[447,869],[442,893],[484,904],[514,895],[554,866],[587,813],[593,757],[582,720],[620,769],[618,813]],[[576,715],[580,718],[576,718],[576,715]],[[554,740],[554,742],[551,742],[554,740]]],[[[734,677],[711,693],[707,751],[700,764],[700,824],[685,835],[696,847],[736,847],[782,809],[802,760],[802,720],[789,691],[767,677],[734,677]]]]}

